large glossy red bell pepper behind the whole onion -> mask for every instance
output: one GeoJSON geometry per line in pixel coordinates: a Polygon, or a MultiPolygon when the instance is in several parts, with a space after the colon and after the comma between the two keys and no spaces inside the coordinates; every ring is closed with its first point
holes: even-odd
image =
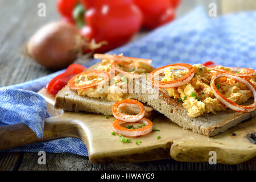
{"type": "Polygon", "coordinates": [[[95,52],[106,52],[127,43],[138,32],[142,14],[132,0],[81,0],[86,26],[81,34],[89,41],[107,44],[95,52]]]}

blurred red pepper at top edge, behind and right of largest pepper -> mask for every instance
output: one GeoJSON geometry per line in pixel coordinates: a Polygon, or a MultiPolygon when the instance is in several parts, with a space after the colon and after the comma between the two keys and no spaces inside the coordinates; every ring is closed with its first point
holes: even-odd
{"type": "Polygon", "coordinates": [[[161,16],[170,7],[170,0],[135,0],[143,14],[143,26],[155,28],[159,26],[161,16]]]}

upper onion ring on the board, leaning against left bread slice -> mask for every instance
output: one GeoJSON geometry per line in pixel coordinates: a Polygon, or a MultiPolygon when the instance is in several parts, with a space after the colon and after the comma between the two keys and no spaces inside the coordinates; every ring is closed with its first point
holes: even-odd
{"type": "Polygon", "coordinates": [[[141,102],[139,102],[137,100],[125,99],[125,100],[115,102],[115,104],[112,106],[112,112],[113,112],[115,119],[118,119],[120,121],[125,121],[125,122],[136,122],[144,117],[145,107],[141,102]],[[128,106],[129,105],[137,105],[137,106],[141,107],[141,111],[139,114],[136,114],[136,115],[119,113],[118,108],[125,106],[125,105],[128,105],[128,106]]]}

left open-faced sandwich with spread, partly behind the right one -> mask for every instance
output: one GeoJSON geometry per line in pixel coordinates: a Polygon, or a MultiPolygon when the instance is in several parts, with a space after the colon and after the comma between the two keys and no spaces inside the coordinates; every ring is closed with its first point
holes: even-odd
{"type": "MultiPolygon", "coordinates": [[[[102,61],[73,77],[56,94],[56,109],[100,113],[107,117],[113,115],[115,102],[131,98],[128,85],[133,77],[155,69],[151,66],[151,60],[147,59],[107,54],[95,54],[94,58],[102,61]]],[[[147,105],[144,107],[144,117],[152,118],[154,109],[147,105]]],[[[121,110],[126,114],[139,113],[137,106],[123,107],[121,110]]]]}

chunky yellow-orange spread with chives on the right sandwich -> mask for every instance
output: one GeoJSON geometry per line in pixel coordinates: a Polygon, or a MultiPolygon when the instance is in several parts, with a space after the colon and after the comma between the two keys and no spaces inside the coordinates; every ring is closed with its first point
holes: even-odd
{"type": "MultiPolygon", "coordinates": [[[[226,110],[226,107],[214,96],[212,89],[210,89],[210,78],[213,71],[202,64],[194,64],[195,76],[191,81],[187,82],[177,88],[165,89],[169,96],[177,98],[183,102],[183,107],[187,109],[189,117],[195,118],[205,113],[216,113],[216,111],[226,110]]],[[[231,72],[226,67],[216,67],[231,72]]],[[[239,73],[243,73],[242,69],[239,73]]],[[[174,67],[168,68],[164,72],[164,77],[161,81],[173,81],[187,75],[187,70],[175,70],[174,67]]],[[[256,72],[250,80],[256,86],[256,72]]],[[[241,82],[233,78],[221,77],[216,80],[216,87],[218,91],[228,98],[236,102],[236,104],[243,104],[249,98],[253,97],[253,93],[243,85],[241,82]]]]}

